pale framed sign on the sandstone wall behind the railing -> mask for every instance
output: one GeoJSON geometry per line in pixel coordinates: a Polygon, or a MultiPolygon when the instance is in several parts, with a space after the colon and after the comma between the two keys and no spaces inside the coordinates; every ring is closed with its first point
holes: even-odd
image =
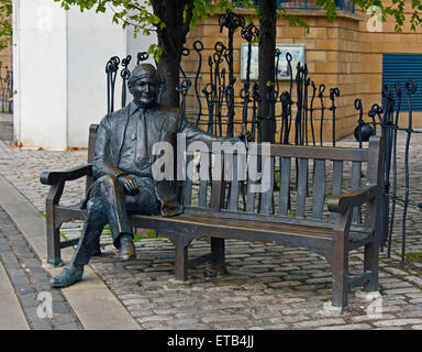
{"type": "MultiPolygon", "coordinates": [[[[297,73],[297,66],[300,62],[304,65],[304,44],[276,44],[276,50],[279,51],[278,66],[277,69],[277,78],[290,79],[290,69],[287,61],[287,56],[290,55],[290,66],[292,70],[292,77],[295,79],[297,73]]],[[[246,70],[247,70],[247,43],[242,44],[241,48],[241,79],[246,79],[246,70]]],[[[275,61],[277,65],[277,56],[275,55],[275,61]]],[[[252,45],[251,51],[251,74],[249,78],[252,80],[258,79],[258,45],[252,45]]]]}

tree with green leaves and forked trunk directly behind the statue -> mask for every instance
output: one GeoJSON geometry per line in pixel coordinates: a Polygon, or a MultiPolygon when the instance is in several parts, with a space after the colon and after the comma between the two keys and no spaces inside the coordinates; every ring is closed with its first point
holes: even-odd
{"type": "MultiPolygon", "coordinates": [[[[227,8],[233,9],[233,1],[227,0],[54,0],[66,10],[78,6],[81,11],[95,9],[97,12],[113,11],[113,22],[123,28],[131,25],[135,35],[156,32],[158,45],[152,45],[148,54],[158,62],[158,72],[166,81],[163,105],[178,106],[179,96],[176,87],[179,84],[181,52],[191,25],[199,18],[212,15],[227,8]],[[147,4],[153,8],[148,11],[147,4]]],[[[252,1],[243,0],[245,6],[252,1]]]]}

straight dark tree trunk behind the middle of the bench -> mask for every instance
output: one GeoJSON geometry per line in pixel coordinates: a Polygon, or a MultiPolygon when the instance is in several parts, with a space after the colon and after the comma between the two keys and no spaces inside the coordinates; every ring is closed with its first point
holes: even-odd
{"type": "Polygon", "coordinates": [[[277,0],[260,0],[259,19],[259,94],[263,98],[260,105],[262,121],[262,141],[274,142],[276,124],[274,120],[268,120],[274,111],[274,103],[269,101],[268,96],[274,92],[275,84],[275,53],[276,53],[276,12],[277,0]],[[273,110],[271,110],[273,109],[273,110]]]}

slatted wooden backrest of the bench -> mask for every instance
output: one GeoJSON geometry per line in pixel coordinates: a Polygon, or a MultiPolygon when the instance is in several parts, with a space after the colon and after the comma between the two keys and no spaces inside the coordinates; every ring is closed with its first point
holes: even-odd
{"type": "MultiPolygon", "coordinates": [[[[88,163],[93,160],[97,129],[98,125],[92,124],[89,130],[88,163]]],[[[262,155],[259,145],[256,152],[262,155]]],[[[253,156],[249,148],[246,164],[253,156]]],[[[380,157],[377,136],[371,138],[368,148],[271,144],[269,157],[257,158],[257,164],[269,175],[264,191],[259,193],[256,186],[263,186],[262,180],[253,182],[237,172],[242,160],[245,162],[241,154],[222,155],[220,162],[224,167],[215,177],[219,161],[212,156],[210,146],[208,151],[186,153],[185,172],[193,177],[179,183],[179,200],[190,211],[235,211],[330,221],[334,217],[324,207],[326,197],[364,184],[380,185],[380,157]]],[[[92,179],[87,183],[89,187],[92,179]]],[[[353,221],[360,222],[359,209],[355,209],[353,221]]]]}

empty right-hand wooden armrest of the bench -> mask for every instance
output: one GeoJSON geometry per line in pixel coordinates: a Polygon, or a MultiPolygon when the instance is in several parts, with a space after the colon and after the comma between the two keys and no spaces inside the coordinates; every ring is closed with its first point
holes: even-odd
{"type": "Polygon", "coordinates": [[[345,195],[331,196],[327,198],[329,210],[343,213],[348,208],[362,206],[371,200],[378,193],[378,185],[368,184],[345,195]]]}

